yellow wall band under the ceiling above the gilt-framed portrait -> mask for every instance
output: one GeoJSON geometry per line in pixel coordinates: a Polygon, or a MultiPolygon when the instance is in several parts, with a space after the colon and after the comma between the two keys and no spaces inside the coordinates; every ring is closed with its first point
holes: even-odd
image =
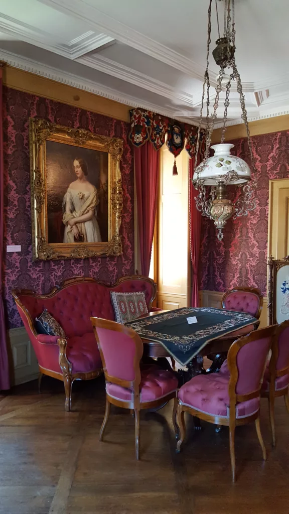
{"type": "Polygon", "coordinates": [[[130,121],[129,111],[132,107],[129,105],[9,65],[5,65],[3,68],[3,84],[31,95],[73,105],[85,109],[85,111],[130,121]]]}

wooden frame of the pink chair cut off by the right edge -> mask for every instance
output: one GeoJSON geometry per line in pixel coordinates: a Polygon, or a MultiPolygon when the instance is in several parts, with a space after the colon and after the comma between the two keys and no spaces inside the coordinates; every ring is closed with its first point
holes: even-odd
{"type": "Polygon", "coordinates": [[[279,396],[284,396],[285,406],[289,413],[289,387],[287,386],[285,389],[281,389],[280,391],[276,391],[275,389],[275,380],[278,377],[282,377],[284,375],[289,374],[289,365],[282,370],[276,370],[276,364],[279,355],[279,347],[278,347],[278,339],[280,334],[285,330],[285,328],[289,327],[289,320],[283,321],[276,328],[276,334],[274,336],[274,342],[272,345],[272,355],[269,362],[269,391],[261,390],[261,396],[263,398],[268,398],[269,403],[269,417],[270,417],[270,426],[272,433],[272,446],[276,445],[276,435],[275,435],[275,416],[274,416],[274,405],[275,398],[279,396]]]}

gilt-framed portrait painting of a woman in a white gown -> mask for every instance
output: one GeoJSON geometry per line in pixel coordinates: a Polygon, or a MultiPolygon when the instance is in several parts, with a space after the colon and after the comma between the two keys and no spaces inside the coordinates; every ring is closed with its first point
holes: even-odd
{"type": "Polygon", "coordinates": [[[34,260],[122,253],[123,140],[30,119],[34,260]]]}

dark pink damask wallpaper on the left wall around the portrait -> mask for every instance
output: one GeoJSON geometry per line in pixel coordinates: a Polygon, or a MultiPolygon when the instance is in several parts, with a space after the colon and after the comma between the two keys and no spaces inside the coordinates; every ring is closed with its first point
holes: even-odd
{"type": "Polygon", "coordinates": [[[113,283],[134,272],[133,154],[128,144],[129,123],[76,107],[4,88],[5,241],[21,245],[21,253],[7,253],[4,262],[4,294],[9,328],[22,324],[11,289],[34,289],[46,293],[52,286],[74,276],[90,276],[113,283]],[[95,259],[32,262],[29,163],[29,118],[86,128],[104,136],[122,137],[120,164],[123,180],[121,236],[123,254],[95,259]]]}

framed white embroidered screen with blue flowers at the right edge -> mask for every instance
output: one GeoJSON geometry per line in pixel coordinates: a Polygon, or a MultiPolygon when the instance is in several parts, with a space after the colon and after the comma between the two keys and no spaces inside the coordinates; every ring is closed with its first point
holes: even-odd
{"type": "Polygon", "coordinates": [[[268,260],[268,322],[269,325],[289,319],[289,255],[282,261],[268,260]]]}

